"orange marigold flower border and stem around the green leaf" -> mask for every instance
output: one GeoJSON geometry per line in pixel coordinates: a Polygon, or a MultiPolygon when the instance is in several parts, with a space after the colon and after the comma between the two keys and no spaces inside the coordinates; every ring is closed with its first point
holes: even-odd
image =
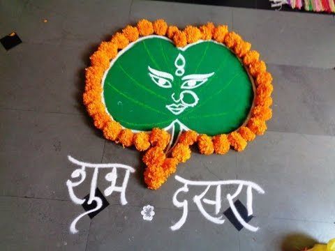
{"type": "Polygon", "coordinates": [[[208,22],[199,27],[186,26],[184,30],[179,30],[177,26],[169,26],[164,20],[154,22],[140,20],[136,26],[128,25],[115,33],[110,41],[102,42],[98,50],[90,56],[90,60],[91,66],[85,72],[86,82],[83,94],[87,112],[93,118],[94,126],[103,130],[106,139],[122,144],[124,147],[135,146],[138,151],[147,151],[143,156],[143,161],[147,165],[144,171],[144,182],[150,189],[160,188],[168,176],[176,171],[180,162],[186,162],[191,158],[191,145],[198,144],[200,153],[204,155],[225,154],[230,149],[243,151],[247,142],[255,139],[255,135],[264,134],[267,130],[266,121],[272,116],[270,108],[273,91],[272,77],[267,72],[265,62],[260,60],[258,52],[251,50],[251,43],[244,41],[234,31],[228,31],[226,25],[215,26],[208,22]],[[248,75],[253,79],[254,100],[246,123],[228,135],[210,137],[198,135],[194,131],[183,132],[174,148],[165,153],[164,150],[171,137],[165,130],[154,128],[151,132],[133,132],[114,121],[107,113],[102,100],[103,74],[120,50],[140,36],[153,34],[167,36],[177,47],[184,47],[200,39],[215,40],[228,47],[239,58],[248,75]]]}

